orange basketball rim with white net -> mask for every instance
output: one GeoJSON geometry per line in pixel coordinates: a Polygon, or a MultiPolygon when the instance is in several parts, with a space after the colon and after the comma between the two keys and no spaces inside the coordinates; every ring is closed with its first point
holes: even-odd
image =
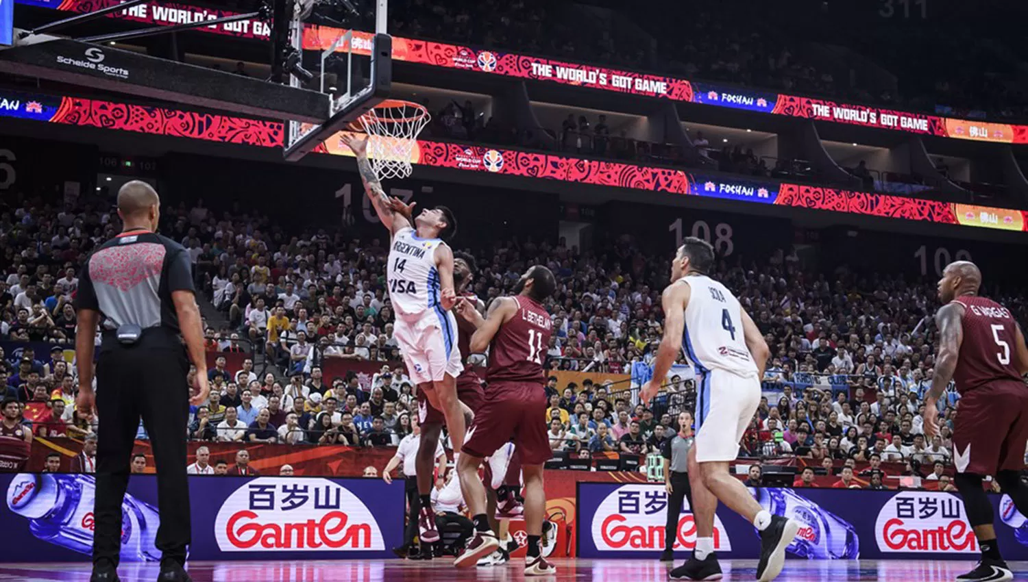
{"type": "Polygon", "coordinates": [[[431,118],[424,106],[399,100],[386,100],[360,117],[378,180],[410,176],[417,134],[431,118]]]}

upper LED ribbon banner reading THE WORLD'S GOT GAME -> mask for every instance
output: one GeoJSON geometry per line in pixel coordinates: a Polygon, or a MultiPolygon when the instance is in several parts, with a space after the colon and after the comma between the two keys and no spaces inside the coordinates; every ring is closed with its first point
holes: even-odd
{"type": "MultiPolygon", "coordinates": [[[[16,0],[16,2],[81,13],[116,5],[119,0],[16,0]]],[[[173,25],[208,21],[233,13],[188,4],[151,1],[111,12],[108,16],[138,23],[173,25]]],[[[197,30],[261,40],[267,40],[270,35],[270,28],[259,20],[215,25],[197,30]]],[[[303,30],[303,48],[325,50],[345,32],[342,29],[307,25],[303,30]]],[[[370,54],[371,35],[369,33],[355,31],[353,38],[355,53],[370,54]]],[[[350,50],[350,47],[341,46],[338,50],[350,50]]],[[[568,63],[494,49],[479,49],[445,42],[393,37],[393,59],[446,69],[476,71],[519,79],[548,81],[592,89],[656,96],[676,102],[759,111],[774,115],[862,125],[922,135],[1006,144],[1028,143],[1028,125],[957,119],[865,105],[844,104],[817,98],[790,95],[702,81],[688,81],[664,75],[624,71],[583,63],[568,63]]]]}

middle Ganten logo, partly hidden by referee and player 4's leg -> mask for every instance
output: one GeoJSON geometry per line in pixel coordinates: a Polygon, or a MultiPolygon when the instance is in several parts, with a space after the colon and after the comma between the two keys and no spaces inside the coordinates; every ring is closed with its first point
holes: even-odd
{"type": "MultiPolygon", "coordinates": [[[[689,512],[689,501],[683,501],[686,511],[678,516],[675,535],[676,549],[696,547],[696,522],[689,512]]],[[[664,523],[667,518],[667,491],[651,484],[626,484],[612,491],[600,502],[592,516],[590,533],[597,550],[660,551],[664,549],[664,523]]],[[[731,540],[714,516],[713,547],[730,551],[731,540]]]]}

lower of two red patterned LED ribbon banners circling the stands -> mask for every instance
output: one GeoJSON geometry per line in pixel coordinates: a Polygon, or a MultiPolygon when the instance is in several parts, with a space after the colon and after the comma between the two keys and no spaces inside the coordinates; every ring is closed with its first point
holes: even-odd
{"type": "MultiPolygon", "coordinates": [[[[189,138],[224,144],[281,148],[282,123],[244,117],[127,105],[79,98],[0,91],[0,116],[189,138]]],[[[330,138],[317,153],[352,155],[330,138]]],[[[705,198],[721,198],[910,221],[1024,231],[1022,210],[953,204],[891,194],[691,174],[678,169],[588,160],[541,152],[419,141],[412,163],[504,176],[558,180],[705,198]]]]}

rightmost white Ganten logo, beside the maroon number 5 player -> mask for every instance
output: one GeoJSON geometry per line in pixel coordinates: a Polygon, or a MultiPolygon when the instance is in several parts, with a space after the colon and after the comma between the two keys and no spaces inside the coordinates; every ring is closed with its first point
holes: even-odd
{"type": "Polygon", "coordinates": [[[896,494],[878,513],[875,538],[883,552],[978,551],[963,503],[948,493],[896,494]]]}

